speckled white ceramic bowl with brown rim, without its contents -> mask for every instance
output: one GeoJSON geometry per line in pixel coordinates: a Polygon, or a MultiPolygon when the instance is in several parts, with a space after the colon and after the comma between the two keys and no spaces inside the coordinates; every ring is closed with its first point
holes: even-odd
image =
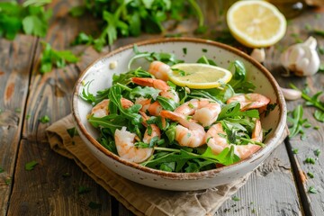
{"type": "Polygon", "coordinates": [[[266,136],[266,147],[261,148],[256,154],[237,164],[199,173],[168,173],[128,162],[112,154],[96,141],[98,132],[86,119],[86,115],[91,111],[92,106],[79,97],[83,89],[82,82],[86,83],[93,80],[89,91],[95,94],[98,90],[103,90],[112,84],[112,74],[127,71],[129,60],[134,55],[133,45],[116,49],[95,60],[85,69],[76,82],[72,102],[73,117],[81,138],[85,141],[91,153],[115,173],[139,184],[161,189],[175,191],[205,189],[227,184],[252,171],[283,141],[286,135],[284,96],[275,78],[266,68],[245,53],[218,42],[199,39],[147,40],[139,42],[137,45],[140,51],[175,53],[177,58],[184,59],[185,62],[195,62],[202,55],[205,55],[207,58],[213,59],[218,66],[225,68],[229,66],[230,61],[241,60],[247,68],[247,79],[257,85],[256,92],[266,95],[271,99],[271,103],[277,103],[277,106],[273,112],[270,112],[266,118],[261,120],[264,129],[272,129],[270,134],[266,136]],[[186,49],[186,53],[184,53],[184,49],[186,49]],[[109,66],[112,62],[116,62],[117,67],[111,69],[109,66]]]}

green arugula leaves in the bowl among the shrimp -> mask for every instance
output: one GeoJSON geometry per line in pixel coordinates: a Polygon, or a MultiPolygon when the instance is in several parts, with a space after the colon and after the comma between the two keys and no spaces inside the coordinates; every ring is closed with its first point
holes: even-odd
{"type": "MultiPolygon", "coordinates": [[[[153,60],[160,60],[169,65],[182,62],[175,58],[173,54],[168,53],[148,53],[140,52],[136,46],[134,46],[135,58],[146,58],[148,62],[153,60]]],[[[205,63],[210,63],[211,60],[207,59],[205,63]]],[[[247,82],[247,71],[242,62],[236,60],[230,64],[230,68],[234,76],[229,84],[220,86],[220,88],[212,89],[190,89],[187,91],[184,87],[177,86],[168,81],[168,84],[172,86],[179,94],[180,104],[189,101],[193,98],[207,98],[221,104],[222,111],[220,112],[217,122],[221,122],[226,125],[225,132],[227,139],[231,143],[246,145],[251,142],[251,131],[255,127],[253,118],[259,118],[259,112],[257,110],[248,110],[246,112],[239,111],[239,103],[229,103],[226,101],[233,94],[236,93],[250,93],[255,88],[254,85],[247,82]],[[230,85],[230,83],[233,85],[230,85]],[[238,135],[239,134],[239,135],[238,135]],[[243,139],[245,137],[246,139],[243,139]]],[[[110,99],[109,103],[109,115],[102,118],[94,117],[94,115],[88,116],[88,121],[98,130],[100,130],[100,137],[98,141],[104,148],[117,154],[114,132],[115,130],[121,130],[121,127],[126,126],[127,130],[131,133],[135,133],[139,138],[143,137],[144,131],[147,129],[141,123],[141,115],[139,115],[140,104],[135,104],[128,109],[124,109],[121,106],[121,95],[123,98],[129,99],[134,102],[134,98],[137,96],[143,96],[151,98],[157,95],[157,89],[152,87],[143,87],[135,85],[130,82],[131,77],[152,77],[147,71],[139,68],[130,69],[126,73],[121,75],[113,75],[112,87],[98,91],[95,95],[89,92],[89,85],[91,82],[84,85],[82,94],[80,95],[86,102],[95,105],[103,101],[103,99],[110,99]]],[[[159,91],[159,90],[158,90],[159,91]]],[[[158,98],[158,96],[157,96],[158,98]]],[[[159,101],[161,103],[161,101],[159,101]]],[[[166,110],[175,110],[175,107],[179,104],[169,103],[168,100],[161,103],[166,110]]],[[[161,130],[161,139],[151,139],[149,144],[138,141],[135,146],[138,148],[151,147],[154,148],[154,154],[149,157],[148,160],[142,162],[142,166],[148,166],[155,169],[160,169],[168,172],[199,172],[203,170],[209,170],[215,168],[216,164],[230,165],[238,162],[239,157],[234,154],[234,148],[224,148],[219,155],[214,155],[211,152],[211,148],[207,145],[203,145],[199,148],[182,147],[175,141],[175,123],[168,121],[166,126],[163,127],[161,118],[159,116],[150,116],[148,123],[154,123],[159,126],[161,130]]],[[[157,137],[156,137],[157,138],[157,137]]],[[[264,145],[263,143],[258,143],[264,145]]]]}

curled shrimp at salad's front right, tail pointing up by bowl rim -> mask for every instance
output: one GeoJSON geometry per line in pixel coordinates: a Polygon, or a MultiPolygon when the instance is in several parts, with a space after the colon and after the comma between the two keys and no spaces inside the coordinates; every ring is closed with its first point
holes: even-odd
{"type": "MultiPolygon", "coordinates": [[[[234,145],[229,144],[227,139],[222,137],[220,134],[226,134],[225,131],[222,129],[221,123],[217,123],[211,126],[211,128],[207,131],[205,136],[205,142],[211,148],[212,152],[215,155],[220,154],[220,152],[224,148],[229,148],[230,146],[234,147],[234,153],[240,158],[245,159],[255,152],[259,148],[259,145],[248,143],[247,145],[234,145]]],[[[256,126],[252,131],[252,140],[261,142],[263,139],[261,121],[256,121],[256,126]]]]}

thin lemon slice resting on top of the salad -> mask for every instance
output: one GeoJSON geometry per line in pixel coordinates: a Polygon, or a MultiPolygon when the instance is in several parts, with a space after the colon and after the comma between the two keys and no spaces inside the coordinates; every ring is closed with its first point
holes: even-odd
{"type": "Polygon", "coordinates": [[[175,85],[196,89],[218,87],[232,76],[227,69],[199,63],[176,64],[171,69],[168,76],[175,85]]]}

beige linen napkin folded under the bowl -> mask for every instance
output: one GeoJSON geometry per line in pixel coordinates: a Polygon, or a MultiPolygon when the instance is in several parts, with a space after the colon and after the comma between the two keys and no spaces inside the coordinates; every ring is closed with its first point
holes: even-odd
{"type": "Polygon", "coordinates": [[[67,129],[74,127],[71,114],[49,126],[47,135],[50,148],[74,159],[97,184],[137,215],[212,215],[246,183],[249,175],[230,184],[201,191],[172,192],[151,188],[131,182],[103,166],[79,136],[70,137],[67,129]]]}

